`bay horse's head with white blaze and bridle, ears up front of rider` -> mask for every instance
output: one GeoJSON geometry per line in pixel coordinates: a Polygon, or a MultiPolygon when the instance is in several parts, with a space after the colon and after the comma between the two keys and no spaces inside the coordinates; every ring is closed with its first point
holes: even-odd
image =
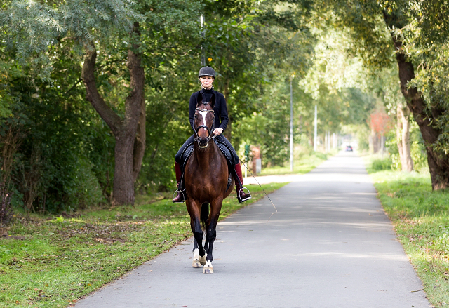
{"type": "MultiPolygon", "coordinates": [[[[202,98],[201,93],[199,99],[202,98]]],[[[215,124],[215,116],[213,114],[213,106],[211,102],[202,102],[199,100],[196,104],[194,115],[194,130],[199,147],[208,147],[208,142],[213,133],[213,126],[215,124]]]]}

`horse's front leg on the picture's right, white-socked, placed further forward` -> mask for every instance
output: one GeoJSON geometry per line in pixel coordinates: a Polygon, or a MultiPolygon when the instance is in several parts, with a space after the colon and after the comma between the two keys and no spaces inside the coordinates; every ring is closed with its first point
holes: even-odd
{"type": "Polygon", "coordinates": [[[206,243],[204,244],[207,247],[206,250],[206,265],[203,267],[203,273],[212,274],[213,273],[213,242],[217,238],[217,222],[220,217],[220,211],[222,209],[223,198],[218,197],[215,201],[210,203],[210,215],[208,219],[208,223],[206,226],[206,243]]]}

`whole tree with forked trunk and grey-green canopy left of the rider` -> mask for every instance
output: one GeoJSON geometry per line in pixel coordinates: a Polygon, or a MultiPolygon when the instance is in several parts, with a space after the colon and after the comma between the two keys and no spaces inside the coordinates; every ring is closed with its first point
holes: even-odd
{"type": "Polygon", "coordinates": [[[168,53],[176,53],[180,50],[177,48],[192,48],[192,44],[177,48],[173,45],[179,38],[187,41],[187,36],[198,37],[194,29],[199,22],[192,22],[190,17],[199,8],[199,1],[179,0],[149,0],[139,4],[121,0],[51,4],[13,1],[1,14],[1,20],[8,25],[7,43],[11,51],[43,81],[51,82],[54,63],[60,60],[51,53],[52,46],[74,41],[72,48],[78,53],[74,60],[84,54],[81,80],[86,98],[116,140],[114,204],[134,202],[134,182],[145,154],[145,67],[169,59],[168,53]],[[115,69],[107,70],[105,78],[104,67],[117,62],[126,62],[128,70],[116,65],[115,69]],[[119,74],[124,78],[112,87],[114,95],[109,95],[117,80],[114,75],[119,74]]]}

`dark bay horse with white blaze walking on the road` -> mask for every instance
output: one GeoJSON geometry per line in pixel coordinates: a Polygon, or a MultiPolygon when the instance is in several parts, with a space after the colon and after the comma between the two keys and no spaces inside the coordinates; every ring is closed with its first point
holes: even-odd
{"type": "Polygon", "coordinates": [[[202,102],[199,94],[194,116],[194,151],[185,167],[186,206],[194,234],[193,267],[203,265],[203,273],[213,273],[212,250],[223,199],[232,192],[234,177],[229,175],[227,160],[211,140],[215,123],[213,103],[202,102]],[[228,183],[228,179],[232,182],[228,183]],[[210,210],[208,208],[210,205],[210,210]],[[203,246],[203,227],[206,241],[203,246]]]}

